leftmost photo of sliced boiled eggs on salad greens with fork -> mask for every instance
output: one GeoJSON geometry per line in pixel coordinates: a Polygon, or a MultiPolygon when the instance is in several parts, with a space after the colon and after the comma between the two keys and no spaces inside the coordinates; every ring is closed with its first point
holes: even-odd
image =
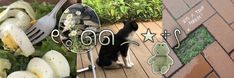
{"type": "Polygon", "coordinates": [[[78,39],[100,24],[79,3],[0,0],[0,78],[76,78],[77,53],[90,47],[78,39]]]}

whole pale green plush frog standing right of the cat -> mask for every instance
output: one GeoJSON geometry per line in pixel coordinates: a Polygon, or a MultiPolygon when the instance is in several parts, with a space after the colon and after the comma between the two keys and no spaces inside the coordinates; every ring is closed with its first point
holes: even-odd
{"type": "Polygon", "coordinates": [[[155,74],[166,74],[173,59],[168,55],[170,50],[165,42],[157,42],[153,47],[154,55],[149,58],[148,63],[152,66],[155,74]]]}

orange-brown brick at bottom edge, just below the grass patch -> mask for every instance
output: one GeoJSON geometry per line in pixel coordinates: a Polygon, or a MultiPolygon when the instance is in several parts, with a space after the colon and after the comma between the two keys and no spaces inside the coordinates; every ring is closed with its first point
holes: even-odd
{"type": "Polygon", "coordinates": [[[212,68],[203,56],[198,55],[175,73],[172,78],[204,78],[211,71],[212,68]]]}

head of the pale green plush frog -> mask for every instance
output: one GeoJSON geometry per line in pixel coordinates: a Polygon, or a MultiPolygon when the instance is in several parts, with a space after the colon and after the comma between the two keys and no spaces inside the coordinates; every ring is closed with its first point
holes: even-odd
{"type": "Polygon", "coordinates": [[[166,43],[164,42],[158,42],[154,46],[154,53],[156,55],[167,55],[169,53],[169,48],[166,43]]]}

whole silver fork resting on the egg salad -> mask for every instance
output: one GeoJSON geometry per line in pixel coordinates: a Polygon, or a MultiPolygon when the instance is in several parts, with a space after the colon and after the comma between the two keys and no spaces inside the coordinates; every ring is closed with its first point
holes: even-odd
{"type": "Polygon", "coordinates": [[[40,42],[51,33],[56,25],[56,15],[66,1],[60,0],[49,14],[40,18],[36,24],[26,30],[26,34],[32,44],[40,42]]]}

